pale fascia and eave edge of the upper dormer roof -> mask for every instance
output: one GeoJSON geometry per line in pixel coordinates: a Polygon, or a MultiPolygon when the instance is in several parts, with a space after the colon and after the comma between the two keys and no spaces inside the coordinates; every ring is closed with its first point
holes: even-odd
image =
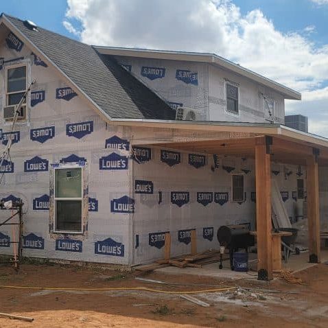
{"type": "Polygon", "coordinates": [[[270,80],[263,75],[250,71],[245,67],[235,64],[230,60],[220,57],[215,54],[188,52],[188,51],[169,51],[169,50],[154,50],[154,49],[137,49],[137,48],[123,48],[123,47],[107,47],[94,46],[100,54],[111,56],[127,56],[137,58],[156,58],[163,60],[182,60],[187,62],[207,62],[210,65],[232,71],[238,75],[248,78],[253,82],[267,86],[278,93],[281,93],[285,99],[301,100],[301,93],[284,86],[278,82],[270,80]]]}

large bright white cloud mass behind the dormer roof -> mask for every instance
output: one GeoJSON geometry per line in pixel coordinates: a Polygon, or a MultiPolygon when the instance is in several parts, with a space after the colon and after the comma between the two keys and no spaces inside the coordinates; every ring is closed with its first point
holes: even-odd
{"type": "MultiPolygon", "coordinates": [[[[284,34],[261,10],[242,14],[230,0],[67,2],[67,22],[80,21],[84,43],[212,52],[303,92],[304,102],[287,104],[290,112],[304,112],[306,105],[311,116],[313,102],[328,104],[321,87],[328,77],[328,45],[312,42],[312,25],[284,34]]],[[[74,24],[67,25],[71,27],[78,32],[74,24]]]]}

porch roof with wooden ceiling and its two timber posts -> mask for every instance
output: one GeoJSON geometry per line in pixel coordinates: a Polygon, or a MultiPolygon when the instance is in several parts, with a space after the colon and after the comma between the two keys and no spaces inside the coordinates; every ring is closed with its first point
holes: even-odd
{"type": "MultiPolygon", "coordinates": [[[[268,133],[257,133],[255,127],[245,130],[245,127],[240,129],[238,126],[225,126],[222,137],[213,139],[178,141],[178,137],[175,137],[175,140],[147,143],[150,147],[238,156],[255,161],[257,278],[263,281],[273,279],[272,263],[277,261],[277,252],[280,250],[280,244],[277,250],[272,242],[272,162],[306,167],[309,263],[321,261],[318,166],[328,166],[328,143],[324,138],[289,128],[283,128],[282,133],[274,126],[266,129],[266,132],[268,133]]],[[[302,258],[304,259],[304,255],[302,258]]]]}

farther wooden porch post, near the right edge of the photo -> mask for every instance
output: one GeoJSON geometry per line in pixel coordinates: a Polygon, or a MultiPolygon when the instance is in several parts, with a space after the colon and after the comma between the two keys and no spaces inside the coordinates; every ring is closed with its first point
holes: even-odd
{"type": "Polygon", "coordinates": [[[307,222],[309,226],[309,262],[320,263],[319,150],[307,158],[307,222]]]}

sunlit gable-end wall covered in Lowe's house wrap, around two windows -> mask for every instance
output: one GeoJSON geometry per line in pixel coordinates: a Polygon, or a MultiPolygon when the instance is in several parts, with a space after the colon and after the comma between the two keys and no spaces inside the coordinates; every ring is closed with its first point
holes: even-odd
{"type": "MultiPolygon", "coordinates": [[[[0,185],[1,200],[21,198],[24,202],[23,254],[51,259],[130,263],[132,214],[113,213],[110,203],[124,196],[125,201],[130,198],[132,171],[128,166],[100,169],[102,160],[103,168],[106,167],[104,163],[110,160],[112,164],[124,161],[130,165],[129,143],[126,141],[130,139],[130,132],[106,126],[94,110],[67,89],[67,85],[58,78],[58,72],[46,67],[25,45],[21,51],[16,51],[3,40],[1,57],[5,61],[0,71],[1,107],[5,105],[3,81],[6,65],[27,63],[29,82],[32,78],[36,79],[32,99],[27,99],[27,104],[30,104],[27,121],[17,124],[14,129],[19,132],[10,151],[14,172],[5,173],[0,185]],[[74,129],[79,132],[74,132],[74,129]],[[113,159],[114,153],[117,155],[113,159]],[[108,159],[108,156],[112,157],[108,159]],[[67,162],[82,165],[86,173],[83,235],[53,233],[51,194],[54,190],[51,176],[54,165],[67,162]]],[[[5,133],[11,128],[10,122],[2,120],[2,113],[1,110],[1,153],[5,148],[5,133]]],[[[1,210],[0,222],[9,215],[10,211],[1,210]]],[[[10,226],[1,226],[0,233],[1,254],[12,254],[12,245],[8,247],[6,242],[8,237],[12,240],[10,226]]]]}

